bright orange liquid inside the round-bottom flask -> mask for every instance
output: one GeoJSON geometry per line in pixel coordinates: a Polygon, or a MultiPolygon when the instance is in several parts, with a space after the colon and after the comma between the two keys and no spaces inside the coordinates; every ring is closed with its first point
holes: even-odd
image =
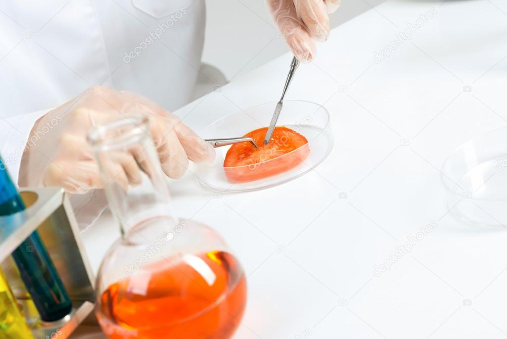
{"type": "Polygon", "coordinates": [[[111,339],[227,339],[246,304],[244,273],[225,252],[160,262],[102,293],[98,318],[111,339]]]}

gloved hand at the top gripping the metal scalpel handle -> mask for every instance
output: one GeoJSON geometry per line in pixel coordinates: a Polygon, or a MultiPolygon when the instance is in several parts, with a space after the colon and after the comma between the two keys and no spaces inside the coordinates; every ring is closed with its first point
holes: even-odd
{"type": "Polygon", "coordinates": [[[299,61],[315,56],[315,41],[326,41],[330,26],[328,13],[341,0],[267,0],[268,8],[285,41],[299,61]]]}

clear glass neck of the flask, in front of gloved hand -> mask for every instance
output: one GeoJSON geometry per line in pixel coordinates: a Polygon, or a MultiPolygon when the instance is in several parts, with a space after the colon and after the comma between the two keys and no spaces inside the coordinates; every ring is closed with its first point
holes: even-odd
{"type": "Polygon", "coordinates": [[[124,239],[132,229],[155,219],[171,220],[168,229],[178,223],[146,116],[136,114],[99,126],[88,139],[124,239]]]}

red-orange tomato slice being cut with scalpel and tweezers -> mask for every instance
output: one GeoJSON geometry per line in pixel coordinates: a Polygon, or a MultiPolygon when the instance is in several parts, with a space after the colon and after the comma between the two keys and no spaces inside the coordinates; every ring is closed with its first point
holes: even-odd
{"type": "Polygon", "coordinates": [[[258,149],[244,142],[232,145],[227,151],[224,169],[229,181],[246,182],[286,172],[303,162],[310,153],[308,140],[287,127],[275,127],[271,142],[264,145],[267,131],[268,127],[263,127],[244,135],[255,140],[258,149]]]}

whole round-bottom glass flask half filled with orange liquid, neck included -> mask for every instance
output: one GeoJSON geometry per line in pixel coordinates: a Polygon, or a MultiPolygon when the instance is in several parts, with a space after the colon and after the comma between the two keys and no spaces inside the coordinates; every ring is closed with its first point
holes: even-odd
{"type": "Polygon", "coordinates": [[[122,230],[97,277],[96,315],[104,333],[111,339],[231,337],[246,304],[243,270],[218,233],[174,217],[148,119],[135,115],[100,126],[89,140],[122,230]],[[123,165],[112,159],[124,159],[123,165]],[[128,184],[118,179],[125,177],[128,184]]]}

